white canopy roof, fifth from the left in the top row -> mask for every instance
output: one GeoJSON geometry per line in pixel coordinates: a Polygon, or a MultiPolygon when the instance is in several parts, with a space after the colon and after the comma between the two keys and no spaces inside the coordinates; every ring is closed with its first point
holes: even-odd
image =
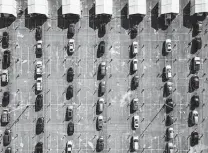
{"type": "Polygon", "coordinates": [[[146,14],[146,0],[129,0],[129,15],[146,14]]]}

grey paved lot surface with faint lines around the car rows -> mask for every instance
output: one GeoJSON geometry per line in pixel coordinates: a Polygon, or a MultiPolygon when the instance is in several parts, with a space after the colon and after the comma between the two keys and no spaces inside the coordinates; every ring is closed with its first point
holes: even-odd
{"type": "MultiPolygon", "coordinates": [[[[128,34],[129,20],[125,18],[127,0],[113,0],[113,16],[106,25],[104,37],[98,37],[98,30],[93,29],[90,21],[93,9],[93,0],[82,0],[82,16],[76,23],[74,36],[76,50],[72,56],[66,53],[67,28],[60,28],[57,10],[61,1],[49,2],[49,19],[42,25],[43,28],[43,97],[44,106],[35,112],[34,104],[34,70],[35,62],[35,30],[27,28],[25,16],[17,18],[8,28],[12,63],[9,68],[9,85],[1,87],[3,91],[10,91],[9,109],[11,122],[7,127],[12,129],[11,145],[13,152],[33,152],[37,142],[44,145],[44,153],[63,152],[68,140],[73,141],[73,150],[77,153],[96,152],[96,141],[104,136],[105,145],[103,153],[127,153],[130,149],[130,140],[133,135],[139,136],[139,153],[161,153],[165,149],[165,111],[162,109],[165,99],[163,97],[164,82],[162,70],[167,65],[172,66],[173,93],[172,99],[176,107],[172,112],[175,122],[173,124],[175,138],[175,152],[200,153],[207,152],[208,147],[208,53],[205,33],[208,21],[203,21],[202,49],[195,55],[201,58],[199,71],[200,88],[196,92],[188,92],[190,59],[191,29],[184,26],[183,11],[188,0],[180,0],[180,14],[172,21],[166,30],[154,29],[153,8],[158,0],[147,0],[147,14],[138,25],[138,35],[130,39],[128,34]],[[166,39],[172,40],[171,55],[163,56],[162,47],[166,39]],[[106,42],[106,52],[103,57],[97,58],[97,48],[100,41],[106,42]],[[131,90],[129,46],[133,41],[139,43],[138,72],[139,87],[131,90]],[[107,84],[104,107],[104,128],[96,130],[96,103],[98,101],[97,70],[101,61],[107,63],[107,75],[104,80],[107,84]],[[66,81],[66,72],[69,67],[75,70],[73,83],[66,81]],[[66,100],[66,89],[73,84],[74,96],[66,100]],[[188,127],[188,114],[191,96],[199,94],[201,105],[199,124],[188,127]],[[133,98],[139,99],[139,111],[130,113],[130,102],[133,98]],[[67,136],[65,112],[67,106],[74,107],[75,132],[67,136]],[[132,117],[140,116],[140,127],[132,130],[132,117]],[[157,115],[157,116],[156,116],[157,115]],[[156,116],[156,117],[155,117],[156,116]],[[44,133],[35,134],[35,125],[38,117],[44,117],[44,133]],[[190,147],[189,135],[197,130],[201,139],[199,145],[190,147]]],[[[26,9],[26,1],[21,3],[26,9]]],[[[29,23],[30,24],[30,23],[29,23]]],[[[35,24],[35,23],[34,23],[35,24]]],[[[63,22],[62,22],[63,24],[63,22]]],[[[1,50],[2,53],[3,50],[1,50]]],[[[0,62],[1,63],[1,62],[0,62]]],[[[4,109],[1,107],[1,109],[4,109]]],[[[1,134],[6,127],[0,127],[1,134]]],[[[2,137],[1,137],[2,139],[2,137]]],[[[2,140],[1,140],[2,141],[2,140]]],[[[1,143],[2,150],[5,149],[1,143]]],[[[1,149],[0,148],[0,149],[1,149]]]]}

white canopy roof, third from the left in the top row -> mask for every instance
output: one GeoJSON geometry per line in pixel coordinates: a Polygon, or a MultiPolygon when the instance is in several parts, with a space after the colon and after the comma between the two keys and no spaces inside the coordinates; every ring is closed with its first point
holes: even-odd
{"type": "Polygon", "coordinates": [[[80,0],[62,0],[62,14],[81,15],[80,0]]]}

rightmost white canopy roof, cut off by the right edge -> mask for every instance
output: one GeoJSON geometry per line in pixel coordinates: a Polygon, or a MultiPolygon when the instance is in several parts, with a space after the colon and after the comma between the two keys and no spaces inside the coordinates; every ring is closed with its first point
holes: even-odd
{"type": "Polygon", "coordinates": [[[208,0],[191,0],[191,15],[208,12],[208,0]]]}

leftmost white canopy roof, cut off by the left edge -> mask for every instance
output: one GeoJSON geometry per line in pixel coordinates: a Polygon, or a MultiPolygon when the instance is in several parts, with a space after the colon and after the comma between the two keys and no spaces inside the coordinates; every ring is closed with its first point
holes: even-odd
{"type": "Polygon", "coordinates": [[[12,14],[17,17],[15,0],[0,0],[0,13],[12,14]]]}

